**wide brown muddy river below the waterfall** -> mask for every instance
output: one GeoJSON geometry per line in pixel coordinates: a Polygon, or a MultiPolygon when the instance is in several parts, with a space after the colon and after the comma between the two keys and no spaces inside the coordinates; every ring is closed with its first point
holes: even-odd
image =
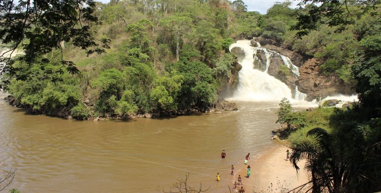
{"type": "Polygon", "coordinates": [[[0,94],[0,170],[17,169],[4,192],[162,192],[188,173],[192,185],[229,192],[231,165],[276,145],[277,103],[163,119],[74,121],[29,115],[0,94]],[[227,158],[220,160],[221,150],[227,158]],[[220,173],[221,181],[215,176],[220,173]]]}

